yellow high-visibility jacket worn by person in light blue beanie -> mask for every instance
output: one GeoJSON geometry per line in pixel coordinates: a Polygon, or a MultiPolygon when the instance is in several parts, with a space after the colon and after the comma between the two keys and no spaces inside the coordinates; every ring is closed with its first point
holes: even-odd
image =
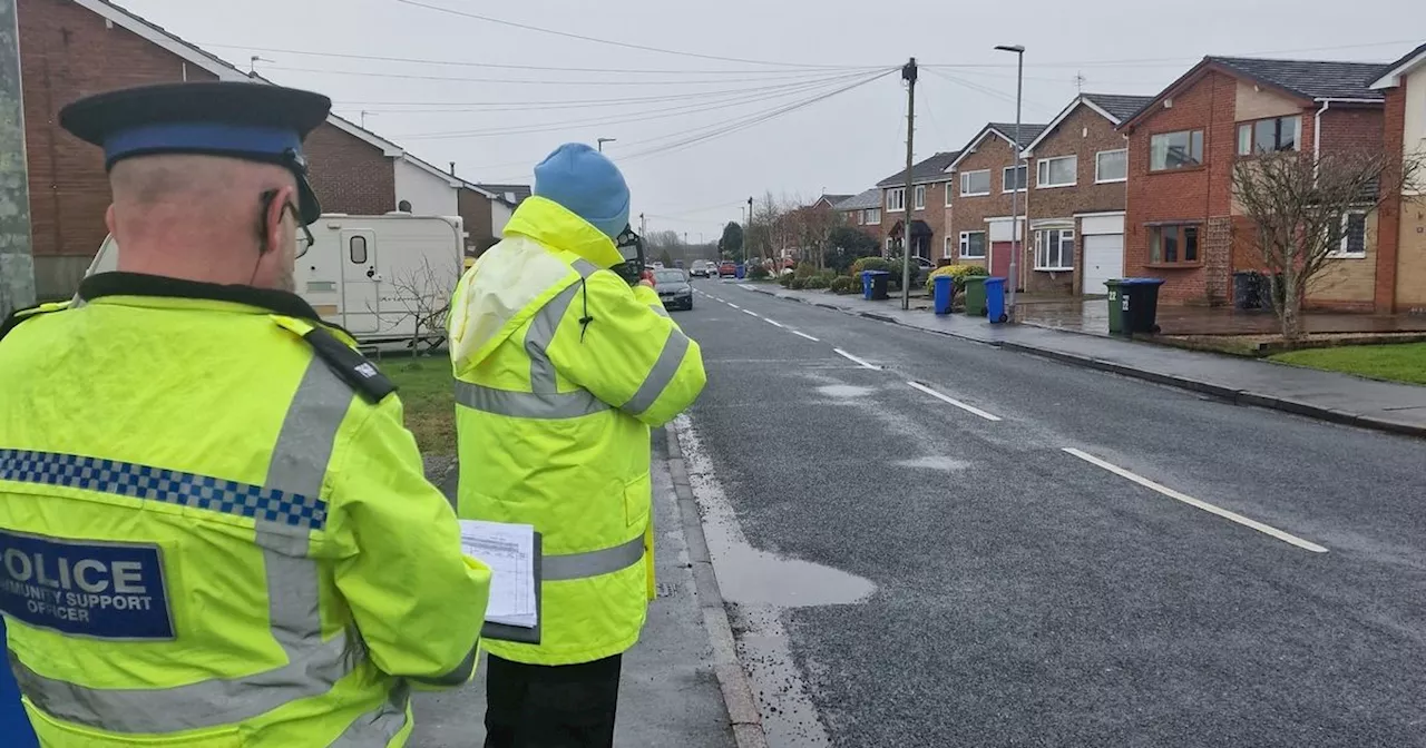
{"type": "Polygon", "coordinates": [[[653,587],[649,427],[703,390],[703,356],[613,242],[560,205],[520,204],[456,286],[459,514],[543,534],[540,644],[492,654],[560,665],[639,640],[653,587]]]}

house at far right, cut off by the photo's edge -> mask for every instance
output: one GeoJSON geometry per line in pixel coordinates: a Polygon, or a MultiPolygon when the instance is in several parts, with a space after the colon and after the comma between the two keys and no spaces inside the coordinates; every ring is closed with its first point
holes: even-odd
{"type": "MultiPolygon", "coordinates": [[[[1383,137],[1387,154],[1426,158],[1426,44],[1386,66],[1372,81],[1386,95],[1383,137]]],[[[1416,181],[1426,178],[1417,174],[1416,181]]],[[[1416,185],[1386,195],[1378,221],[1378,313],[1426,313],[1426,197],[1416,185]]]]}

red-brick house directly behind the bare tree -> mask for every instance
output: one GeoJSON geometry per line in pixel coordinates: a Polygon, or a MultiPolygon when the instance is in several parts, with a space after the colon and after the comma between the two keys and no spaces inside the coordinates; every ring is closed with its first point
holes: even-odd
{"type": "MultiPolygon", "coordinates": [[[[1169,302],[1226,303],[1235,269],[1256,269],[1252,222],[1232,171],[1269,151],[1382,148],[1379,64],[1205,57],[1119,128],[1129,137],[1127,275],[1164,278],[1169,302]]],[[[1308,294],[1319,308],[1369,311],[1375,214],[1343,217],[1343,252],[1308,294]]]]}

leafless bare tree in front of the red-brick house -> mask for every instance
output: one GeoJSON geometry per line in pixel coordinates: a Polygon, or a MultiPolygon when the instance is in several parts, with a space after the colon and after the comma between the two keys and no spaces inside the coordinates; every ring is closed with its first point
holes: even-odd
{"type": "Polygon", "coordinates": [[[1302,336],[1302,301],[1339,261],[1348,217],[1417,188],[1420,171],[1420,158],[1366,151],[1268,154],[1233,167],[1233,198],[1256,228],[1268,271],[1282,278],[1273,308],[1285,339],[1302,336]]]}

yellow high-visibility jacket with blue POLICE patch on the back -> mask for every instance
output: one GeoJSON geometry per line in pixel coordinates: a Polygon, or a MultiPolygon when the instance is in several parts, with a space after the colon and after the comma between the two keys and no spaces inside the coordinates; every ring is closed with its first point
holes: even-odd
{"type": "Polygon", "coordinates": [[[298,296],[131,274],[0,339],[0,610],[44,745],[396,747],[475,668],[401,400],[298,296]]]}

